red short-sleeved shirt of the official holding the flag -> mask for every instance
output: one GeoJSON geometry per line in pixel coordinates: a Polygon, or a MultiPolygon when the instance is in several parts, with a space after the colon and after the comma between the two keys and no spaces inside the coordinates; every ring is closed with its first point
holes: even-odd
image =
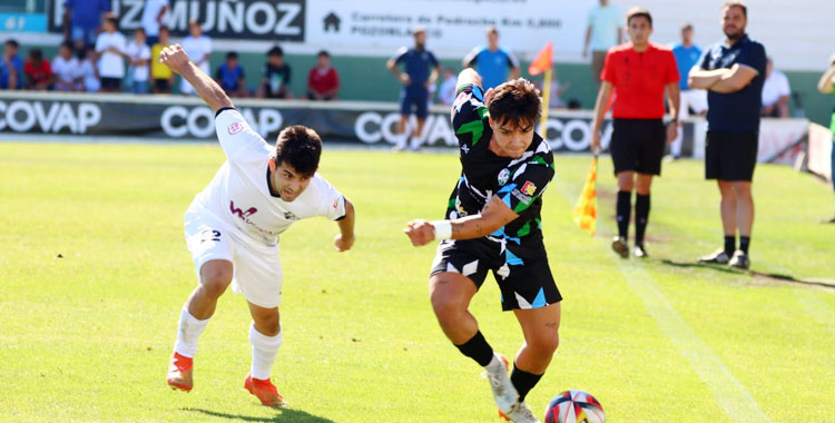
{"type": "Polygon", "coordinates": [[[601,79],[615,87],[612,117],[660,119],[666,112],[664,90],[679,76],[672,50],[650,41],[644,52],[635,51],[631,42],[609,49],[601,79]]]}

